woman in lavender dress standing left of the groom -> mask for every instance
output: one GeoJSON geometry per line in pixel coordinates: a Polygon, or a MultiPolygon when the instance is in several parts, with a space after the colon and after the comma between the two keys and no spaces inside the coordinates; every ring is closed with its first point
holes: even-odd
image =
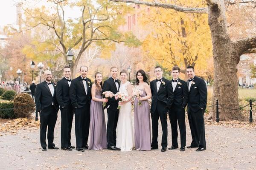
{"type": "Polygon", "coordinates": [[[92,85],[92,101],[90,104],[90,143],[89,150],[102,150],[107,148],[107,131],[102,102],[102,74],[97,72],[95,83],[92,85]]]}

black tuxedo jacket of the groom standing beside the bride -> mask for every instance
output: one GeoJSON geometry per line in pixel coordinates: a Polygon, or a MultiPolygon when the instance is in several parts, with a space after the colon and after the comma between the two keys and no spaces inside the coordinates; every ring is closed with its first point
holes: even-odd
{"type": "MultiPolygon", "coordinates": [[[[102,92],[111,91],[113,94],[116,94],[119,91],[119,88],[120,88],[120,81],[118,80],[118,89],[117,89],[114,79],[110,77],[104,82],[102,92]]],[[[118,100],[116,100],[115,97],[113,96],[111,99],[108,99],[106,107],[115,111],[118,107],[118,100]]]]}

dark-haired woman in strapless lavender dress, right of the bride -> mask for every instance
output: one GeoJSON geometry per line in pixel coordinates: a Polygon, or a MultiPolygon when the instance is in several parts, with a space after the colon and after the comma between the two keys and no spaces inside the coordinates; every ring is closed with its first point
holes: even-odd
{"type": "Polygon", "coordinates": [[[137,150],[151,150],[150,109],[148,104],[151,91],[147,79],[145,71],[137,71],[136,88],[143,91],[143,94],[134,101],[134,134],[137,150]],[[138,105],[139,101],[142,104],[141,106],[138,105]]]}

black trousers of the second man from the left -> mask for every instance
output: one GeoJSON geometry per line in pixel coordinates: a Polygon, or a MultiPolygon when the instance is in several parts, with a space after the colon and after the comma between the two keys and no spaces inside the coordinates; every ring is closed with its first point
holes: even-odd
{"type": "Polygon", "coordinates": [[[72,105],[61,108],[61,147],[71,145],[71,129],[73,122],[74,110],[72,105]]]}

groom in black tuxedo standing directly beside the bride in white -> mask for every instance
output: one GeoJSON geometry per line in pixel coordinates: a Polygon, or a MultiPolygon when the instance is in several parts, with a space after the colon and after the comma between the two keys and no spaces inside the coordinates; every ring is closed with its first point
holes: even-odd
{"type": "MultiPolygon", "coordinates": [[[[103,84],[103,92],[111,91],[116,94],[119,91],[120,81],[117,79],[118,68],[113,66],[110,68],[111,77],[107,79],[103,84]]],[[[116,147],[116,126],[118,120],[118,100],[115,97],[108,99],[106,104],[108,112],[108,125],[107,125],[107,138],[108,138],[108,149],[120,150],[116,147]]]]}

